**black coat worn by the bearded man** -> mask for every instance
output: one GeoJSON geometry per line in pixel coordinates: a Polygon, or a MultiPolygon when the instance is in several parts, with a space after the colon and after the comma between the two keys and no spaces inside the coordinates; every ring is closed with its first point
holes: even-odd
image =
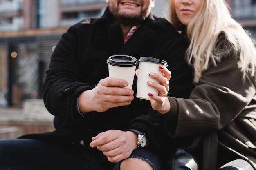
{"type": "MultiPolygon", "coordinates": [[[[86,19],[71,26],[52,54],[43,84],[43,99],[47,110],[55,116],[56,131],[25,137],[56,143],[83,140],[84,146],[90,148],[91,138],[100,132],[136,128],[146,133],[150,141],[148,148],[159,150],[164,126],[162,117],[152,110],[149,101],[135,97],[129,106],[110,108],[104,113],[90,112],[83,117],[77,112],[77,97],[108,77],[109,56],[124,54],[137,59],[148,56],[166,60],[172,72],[168,95],[187,98],[193,84],[191,68],[184,58],[186,45],[186,40],[167,20],[153,15],[141,23],[126,44],[120,25],[112,23],[108,8],[101,18],[86,19]],[[153,115],[135,119],[147,114],[153,115]]],[[[135,76],[132,87],[135,96],[136,85],[135,76]]],[[[99,152],[97,148],[91,150],[99,152]]]]}

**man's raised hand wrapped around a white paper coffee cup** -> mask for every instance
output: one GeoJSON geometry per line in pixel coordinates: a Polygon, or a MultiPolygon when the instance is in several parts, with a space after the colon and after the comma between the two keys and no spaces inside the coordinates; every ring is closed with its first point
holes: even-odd
{"type": "Polygon", "coordinates": [[[124,88],[126,86],[128,82],[123,79],[107,77],[100,80],[94,89],[79,95],[79,110],[104,112],[109,108],[131,104],[134,91],[124,88]]]}

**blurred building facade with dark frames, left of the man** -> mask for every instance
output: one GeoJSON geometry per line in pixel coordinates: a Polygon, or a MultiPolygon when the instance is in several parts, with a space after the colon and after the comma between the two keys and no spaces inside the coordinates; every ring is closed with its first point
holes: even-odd
{"type": "Polygon", "coordinates": [[[106,6],[105,0],[0,0],[0,106],[40,99],[61,35],[106,6]]]}

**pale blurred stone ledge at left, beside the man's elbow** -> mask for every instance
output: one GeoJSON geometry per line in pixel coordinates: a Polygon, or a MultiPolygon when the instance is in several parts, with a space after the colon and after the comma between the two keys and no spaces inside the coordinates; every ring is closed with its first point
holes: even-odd
{"type": "Polygon", "coordinates": [[[0,139],[52,132],[55,130],[53,119],[42,99],[27,100],[22,108],[0,108],[0,139]]]}

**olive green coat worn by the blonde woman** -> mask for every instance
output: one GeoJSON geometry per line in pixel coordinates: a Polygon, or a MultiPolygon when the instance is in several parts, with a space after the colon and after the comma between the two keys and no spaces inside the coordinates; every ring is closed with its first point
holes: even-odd
{"type": "Polygon", "coordinates": [[[256,77],[247,74],[243,79],[239,52],[232,50],[225,33],[219,38],[216,47],[231,50],[217,66],[209,65],[189,99],[169,97],[165,128],[173,138],[193,139],[183,149],[198,153],[202,170],[216,170],[237,158],[256,169],[256,77]]]}

